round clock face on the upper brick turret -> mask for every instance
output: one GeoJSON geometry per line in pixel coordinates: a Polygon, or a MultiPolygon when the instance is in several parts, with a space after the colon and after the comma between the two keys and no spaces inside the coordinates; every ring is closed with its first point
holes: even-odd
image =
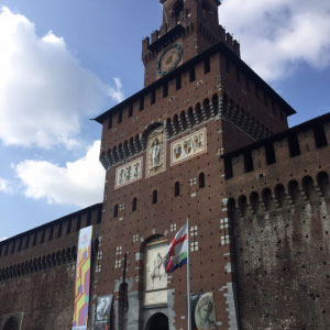
{"type": "Polygon", "coordinates": [[[156,72],[160,76],[165,76],[177,67],[183,57],[183,47],[173,44],[166,47],[158,56],[156,72]]]}

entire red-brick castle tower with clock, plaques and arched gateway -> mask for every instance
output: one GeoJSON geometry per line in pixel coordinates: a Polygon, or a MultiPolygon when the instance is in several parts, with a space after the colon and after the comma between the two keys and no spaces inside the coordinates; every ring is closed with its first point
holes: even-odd
{"type": "Polygon", "coordinates": [[[217,329],[238,329],[221,155],[286,130],[295,111],[240,58],[218,0],[161,3],[162,26],[142,42],[144,88],[96,119],[107,179],[92,289],[114,294],[114,329],[187,329],[186,270],[160,265],[189,219],[190,294],[212,297],[217,329]]]}

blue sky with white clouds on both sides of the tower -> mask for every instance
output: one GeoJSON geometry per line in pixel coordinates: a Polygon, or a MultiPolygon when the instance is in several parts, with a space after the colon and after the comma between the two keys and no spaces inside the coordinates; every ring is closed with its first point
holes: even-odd
{"type": "MultiPolygon", "coordinates": [[[[296,110],[330,110],[330,4],[224,0],[242,57],[296,110]]],[[[157,0],[0,0],[0,239],[102,199],[90,118],[143,87],[141,40],[157,0]],[[143,3],[143,4],[141,4],[143,3]]]]}

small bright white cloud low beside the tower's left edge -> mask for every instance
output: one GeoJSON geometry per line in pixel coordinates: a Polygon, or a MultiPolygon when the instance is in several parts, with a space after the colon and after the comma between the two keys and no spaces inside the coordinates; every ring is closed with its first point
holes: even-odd
{"type": "Polygon", "coordinates": [[[46,161],[24,161],[15,166],[23,194],[48,204],[87,207],[103,200],[106,172],[99,163],[100,141],[84,157],[65,167],[46,161]]]}

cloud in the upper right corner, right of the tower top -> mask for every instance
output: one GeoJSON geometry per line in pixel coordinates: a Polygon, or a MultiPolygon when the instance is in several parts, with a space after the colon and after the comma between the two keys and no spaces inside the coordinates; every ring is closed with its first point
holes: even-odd
{"type": "Polygon", "coordinates": [[[219,15],[265,79],[284,78],[300,63],[330,65],[329,0],[224,0],[219,15]]]}

